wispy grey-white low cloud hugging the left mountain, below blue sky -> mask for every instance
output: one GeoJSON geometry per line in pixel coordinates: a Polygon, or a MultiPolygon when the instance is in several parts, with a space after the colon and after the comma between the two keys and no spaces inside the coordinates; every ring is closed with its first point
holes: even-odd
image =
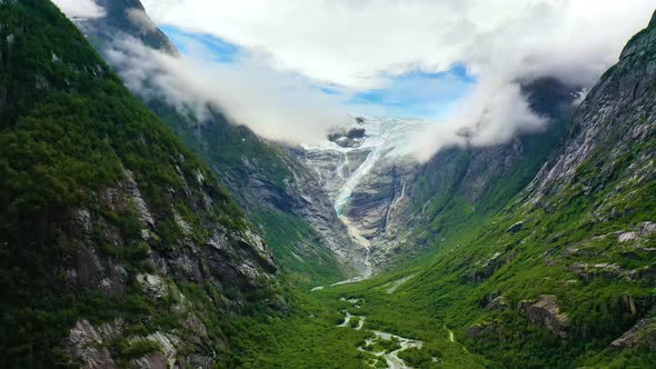
{"type": "Polygon", "coordinates": [[[236,123],[291,143],[318,141],[346,121],[344,94],[327,94],[300,76],[271,70],[267,56],[243,53],[236,62],[213,60],[209,50],[189,41],[183,57],[171,57],[129,37],[117,37],[106,50],[127,87],[146,100],[163,99],[199,120],[208,107],[236,123]]]}

